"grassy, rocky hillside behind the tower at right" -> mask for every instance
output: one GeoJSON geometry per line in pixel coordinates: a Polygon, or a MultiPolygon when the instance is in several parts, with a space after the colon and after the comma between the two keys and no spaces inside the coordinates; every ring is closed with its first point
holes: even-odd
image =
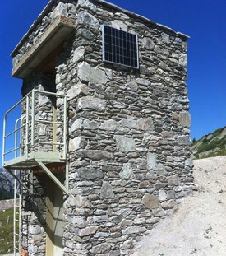
{"type": "Polygon", "coordinates": [[[206,158],[212,156],[226,156],[226,126],[193,140],[191,151],[194,158],[206,158]]]}

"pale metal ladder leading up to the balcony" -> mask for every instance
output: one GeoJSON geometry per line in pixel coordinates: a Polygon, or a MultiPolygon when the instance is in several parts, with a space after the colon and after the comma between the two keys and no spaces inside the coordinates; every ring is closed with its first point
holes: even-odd
{"type": "MultiPolygon", "coordinates": [[[[14,175],[21,179],[21,170],[14,170],[14,175]]],[[[13,249],[14,255],[21,255],[21,184],[14,179],[14,208],[13,208],[13,249]]]]}

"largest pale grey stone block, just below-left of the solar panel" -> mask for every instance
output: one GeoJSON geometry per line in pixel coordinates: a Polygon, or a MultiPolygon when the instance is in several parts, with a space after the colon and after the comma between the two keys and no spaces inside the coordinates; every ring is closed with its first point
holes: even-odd
{"type": "Polygon", "coordinates": [[[82,62],[78,65],[78,77],[81,81],[94,83],[107,83],[108,78],[104,70],[97,67],[91,67],[90,64],[82,62]]]}

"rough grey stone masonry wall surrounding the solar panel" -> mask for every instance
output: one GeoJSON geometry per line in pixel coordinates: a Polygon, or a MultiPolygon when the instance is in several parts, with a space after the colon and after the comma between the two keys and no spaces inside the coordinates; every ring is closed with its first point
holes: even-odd
{"type": "Polygon", "coordinates": [[[193,189],[187,37],[80,0],[60,2],[29,40],[59,13],[77,22],[56,67],[56,91],[69,96],[64,254],[130,255],[193,189]],[[139,70],[103,63],[103,24],[138,35],[139,70]]]}

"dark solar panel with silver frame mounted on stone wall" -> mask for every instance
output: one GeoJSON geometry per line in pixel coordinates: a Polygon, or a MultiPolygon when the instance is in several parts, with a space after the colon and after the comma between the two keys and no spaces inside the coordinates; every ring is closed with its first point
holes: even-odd
{"type": "Polygon", "coordinates": [[[108,63],[138,68],[137,35],[103,26],[103,60],[108,63]]]}

